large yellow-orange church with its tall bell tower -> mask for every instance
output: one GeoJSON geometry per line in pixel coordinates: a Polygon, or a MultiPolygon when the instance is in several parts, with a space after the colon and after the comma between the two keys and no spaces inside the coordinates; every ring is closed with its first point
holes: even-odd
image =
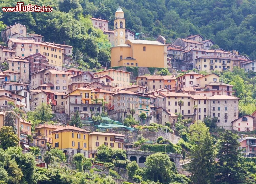
{"type": "Polygon", "coordinates": [[[165,38],[156,41],[126,40],[124,12],[119,7],[114,20],[114,47],[110,48],[111,67],[167,67],[167,45],[165,38]]]}

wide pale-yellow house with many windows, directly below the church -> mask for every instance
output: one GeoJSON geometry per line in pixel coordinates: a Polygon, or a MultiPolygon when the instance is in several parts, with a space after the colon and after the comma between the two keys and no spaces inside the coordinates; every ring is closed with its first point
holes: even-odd
{"type": "Polygon", "coordinates": [[[114,81],[111,81],[113,87],[121,87],[121,86],[129,86],[130,85],[130,74],[131,74],[131,72],[108,69],[108,70],[96,72],[93,75],[94,75],[94,77],[101,77],[101,76],[108,75],[109,77],[114,79],[114,81]]]}

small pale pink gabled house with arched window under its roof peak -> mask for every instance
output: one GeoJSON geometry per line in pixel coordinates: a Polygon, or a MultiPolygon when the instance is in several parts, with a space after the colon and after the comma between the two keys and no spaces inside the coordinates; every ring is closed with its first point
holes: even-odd
{"type": "Polygon", "coordinates": [[[234,121],[231,121],[233,130],[236,131],[252,131],[253,130],[253,119],[251,115],[244,115],[234,121]]]}

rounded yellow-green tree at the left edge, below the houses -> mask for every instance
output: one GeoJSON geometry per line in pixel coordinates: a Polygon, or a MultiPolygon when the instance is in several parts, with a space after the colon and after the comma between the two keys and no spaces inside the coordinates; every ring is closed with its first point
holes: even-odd
{"type": "Polygon", "coordinates": [[[0,148],[6,150],[9,147],[17,146],[19,143],[18,136],[13,132],[10,126],[2,126],[0,129],[0,148]]]}

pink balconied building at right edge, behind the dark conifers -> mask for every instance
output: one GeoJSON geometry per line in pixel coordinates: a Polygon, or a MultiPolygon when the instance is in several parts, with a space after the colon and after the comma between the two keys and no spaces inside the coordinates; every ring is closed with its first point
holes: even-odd
{"type": "Polygon", "coordinates": [[[256,156],[256,138],[254,137],[245,137],[241,139],[237,139],[240,143],[241,153],[244,157],[255,157],[256,156]]]}

